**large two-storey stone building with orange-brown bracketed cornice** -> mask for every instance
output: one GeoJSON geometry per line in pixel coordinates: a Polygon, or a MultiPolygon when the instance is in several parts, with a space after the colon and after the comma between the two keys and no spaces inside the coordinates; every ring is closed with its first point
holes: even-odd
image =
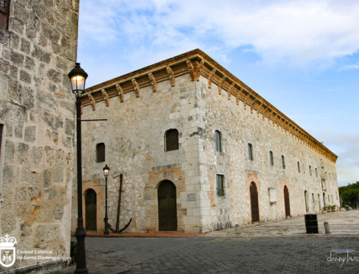
{"type": "MultiPolygon", "coordinates": [[[[201,50],[86,90],[85,224],[206,232],[339,206],[328,148],[201,50]]],[[[74,199],[74,208],[76,208],[74,199]]],[[[72,231],[75,231],[75,215],[72,231]]]]}

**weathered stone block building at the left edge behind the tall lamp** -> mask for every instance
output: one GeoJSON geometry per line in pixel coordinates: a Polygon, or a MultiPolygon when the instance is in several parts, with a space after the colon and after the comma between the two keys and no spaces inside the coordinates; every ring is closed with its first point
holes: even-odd
{"type": "Polygon", "coordinates": [[[35,257],[20,255],[0,272],[40,271],[70,257],[75,96],[67,74],[79,1],[1,0],[0,9],[0,237],[16,238],[17,256],[35,257]],[[38,256],[45,251],[52,258],[38,256]]]}

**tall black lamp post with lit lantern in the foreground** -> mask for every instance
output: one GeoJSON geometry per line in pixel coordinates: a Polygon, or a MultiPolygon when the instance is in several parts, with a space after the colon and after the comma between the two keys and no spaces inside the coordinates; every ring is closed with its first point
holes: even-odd
{"type": "Polygon", "coordinates": [[[85,90],[85,81],[88,77],[80,63],[75,63],[68,77],[71,81],[72,92],[76,96],[76,130],[77,130],[77,258],[75,273],[88,274],[86,267],[84,219],[82,218],[82,172],[81,172],[81,94],[85,90]]]}

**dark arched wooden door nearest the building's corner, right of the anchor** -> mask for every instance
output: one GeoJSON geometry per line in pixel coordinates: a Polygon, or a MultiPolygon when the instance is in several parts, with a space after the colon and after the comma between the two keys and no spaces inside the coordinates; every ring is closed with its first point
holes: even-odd
{"type": "Polygon", "coordinates": [[[171,181],[163,181],[158,189],[158,229],[177,231],[176,187],[171,181]]]}

